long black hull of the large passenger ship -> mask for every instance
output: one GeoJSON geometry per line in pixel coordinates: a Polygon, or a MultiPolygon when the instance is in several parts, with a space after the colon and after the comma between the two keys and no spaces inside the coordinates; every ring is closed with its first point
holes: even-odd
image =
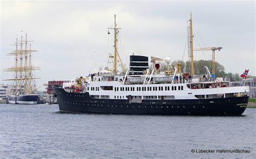
{"type": "Polygon", "coordinates": [[[145,115],[241,115],[248,96],[215,99],[143,100],[93,99],[89,93],[69,93],[53,87],[60,112],[145,115]]]}

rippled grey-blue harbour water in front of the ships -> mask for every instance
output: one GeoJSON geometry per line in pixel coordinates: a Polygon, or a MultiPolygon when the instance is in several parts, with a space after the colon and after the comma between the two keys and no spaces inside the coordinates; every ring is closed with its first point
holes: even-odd
{"type": "Polygon", "coordinates": [[[0,104],[0,158],[256,158],[255,113],[256,109],[246,109],[241,117],[65,114],[58,113],[57,105],[0,104]]]}

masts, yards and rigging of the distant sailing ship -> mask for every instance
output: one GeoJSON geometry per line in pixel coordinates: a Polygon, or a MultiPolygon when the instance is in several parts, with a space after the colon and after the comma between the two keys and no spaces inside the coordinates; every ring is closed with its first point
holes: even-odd
{"type": "Polygon", "coordinates": [[[31,63],[31,54],[32,52],[37,52],[37,50],[31,49],[31,44],[29,44],[28,42],[32,41],[28,41],[27,34],[25,41],[23,41],[23,37],[21,37],[21,41],[18,41],[18,39],[16,38],[16,42],[14,44],[16,46],[16,49],[13,52],[7,54],[15,56],[15,66],[4,69],[4,71],[13,71],[15,73],[14,78],[4,80],[14,81],[9,92],[10,95],[18,96],[23,94],[33,94],[37,92],[35,81],[33,79],[38,78],[34,78],[32,76],[32,71],[39,70],[40,68],[33,67],[31,63]],[[20,49],[18,48],[18,46],[20,46],[20,49]]]}

